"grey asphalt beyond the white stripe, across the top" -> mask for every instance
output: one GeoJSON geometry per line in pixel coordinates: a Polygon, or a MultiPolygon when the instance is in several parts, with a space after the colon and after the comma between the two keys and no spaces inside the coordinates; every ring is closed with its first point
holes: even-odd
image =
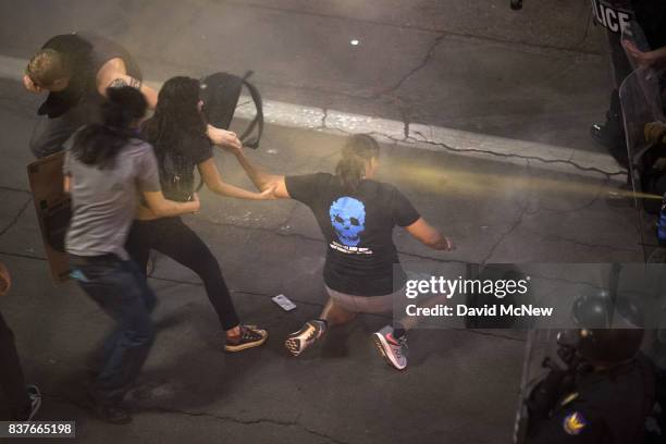
{"type": "Polygon", "coordinates": [[[0,54],[95,29],[148,78],[256,72],[291,103],[599,150],[610,76],[585,1],[122,1],[0,4],[0,54]],[[358,46],[350,41],[358,39],[358,46]]]}

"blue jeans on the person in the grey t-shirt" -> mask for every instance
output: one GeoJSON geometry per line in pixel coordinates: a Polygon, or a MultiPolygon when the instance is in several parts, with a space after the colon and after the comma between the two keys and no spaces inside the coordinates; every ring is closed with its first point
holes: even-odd
{"type": "Polygon", "coordinates": [[[98,404],[122,400],[139,374],[155,338],[150,312],[157,299],[146,278],[132,261],[114,255],[71,256],[72,276],[116,325],[104,344],[104,365],[92,396],[98,404]]]}

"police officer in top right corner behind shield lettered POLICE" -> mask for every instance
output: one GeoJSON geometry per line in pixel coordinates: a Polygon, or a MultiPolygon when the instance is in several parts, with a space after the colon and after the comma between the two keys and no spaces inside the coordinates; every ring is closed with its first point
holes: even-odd
{"type": "Polygon", "coordinates": [[[592,0],[594,22],[606,29],[615,89],[604,124],[590,127],[592,138],[608,149],[618,163],[627,166],[627,147],[618,89],[636,65],[666,60],[666,2],[663,0],[592,0]],[[632,21],[642,28],[650,48],[622,45],[621,35],[632,21]],[[651,50],[652,49],[652,50],[651,50]],[[628,51],[633,59],[627,59],[628,51]]]}

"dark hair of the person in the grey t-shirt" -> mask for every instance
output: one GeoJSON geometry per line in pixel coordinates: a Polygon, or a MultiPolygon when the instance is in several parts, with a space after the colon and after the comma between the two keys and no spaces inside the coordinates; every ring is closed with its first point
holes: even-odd
{"type": "Polygon", "coordinates": [[[74,137],[72,153],[86,165],[112,169],[118,152],[137,138],[132,124],[146,115],[147,102],[136,88],[108,88],[101,104],[102,123],[85,126],[74,137]]]}

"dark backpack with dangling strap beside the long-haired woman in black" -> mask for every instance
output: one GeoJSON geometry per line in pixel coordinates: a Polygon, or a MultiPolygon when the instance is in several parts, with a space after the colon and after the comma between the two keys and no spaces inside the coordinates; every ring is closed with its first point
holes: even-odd
{"type": "Polygon", "coordinates": [[[243,77],[229,73],[214,73],[203,77],[201,79],[200,97],[203,101],[203,114],[208,123],[222,130],[229,130],[238,106],[240,91],[245,86],[252,97],[257,114],[239,138],[244,146],[257,148],[263,134],[263,104],[257,87],[247,81],[250,75],[252,75],[251,71],[248,71],[243,77]],[[257,135],[250,139],[249,136],[255,128],[257,135]]]}

